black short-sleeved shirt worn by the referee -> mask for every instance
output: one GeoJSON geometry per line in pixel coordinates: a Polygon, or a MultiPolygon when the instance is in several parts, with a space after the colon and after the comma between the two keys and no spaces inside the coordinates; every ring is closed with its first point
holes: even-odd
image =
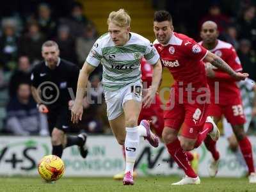
{"type": "Polygon", "coordinates": [[[76,95],[78,76],[79,68],[76,65],[59,58],[54,69],[47,67],[45,61],[35,65],[31,84],[40,88],[42,102],[51,110],[68,106],[72,94],[76,95]],[[71,90],[71,93],[68,90],[71,90]]]}

